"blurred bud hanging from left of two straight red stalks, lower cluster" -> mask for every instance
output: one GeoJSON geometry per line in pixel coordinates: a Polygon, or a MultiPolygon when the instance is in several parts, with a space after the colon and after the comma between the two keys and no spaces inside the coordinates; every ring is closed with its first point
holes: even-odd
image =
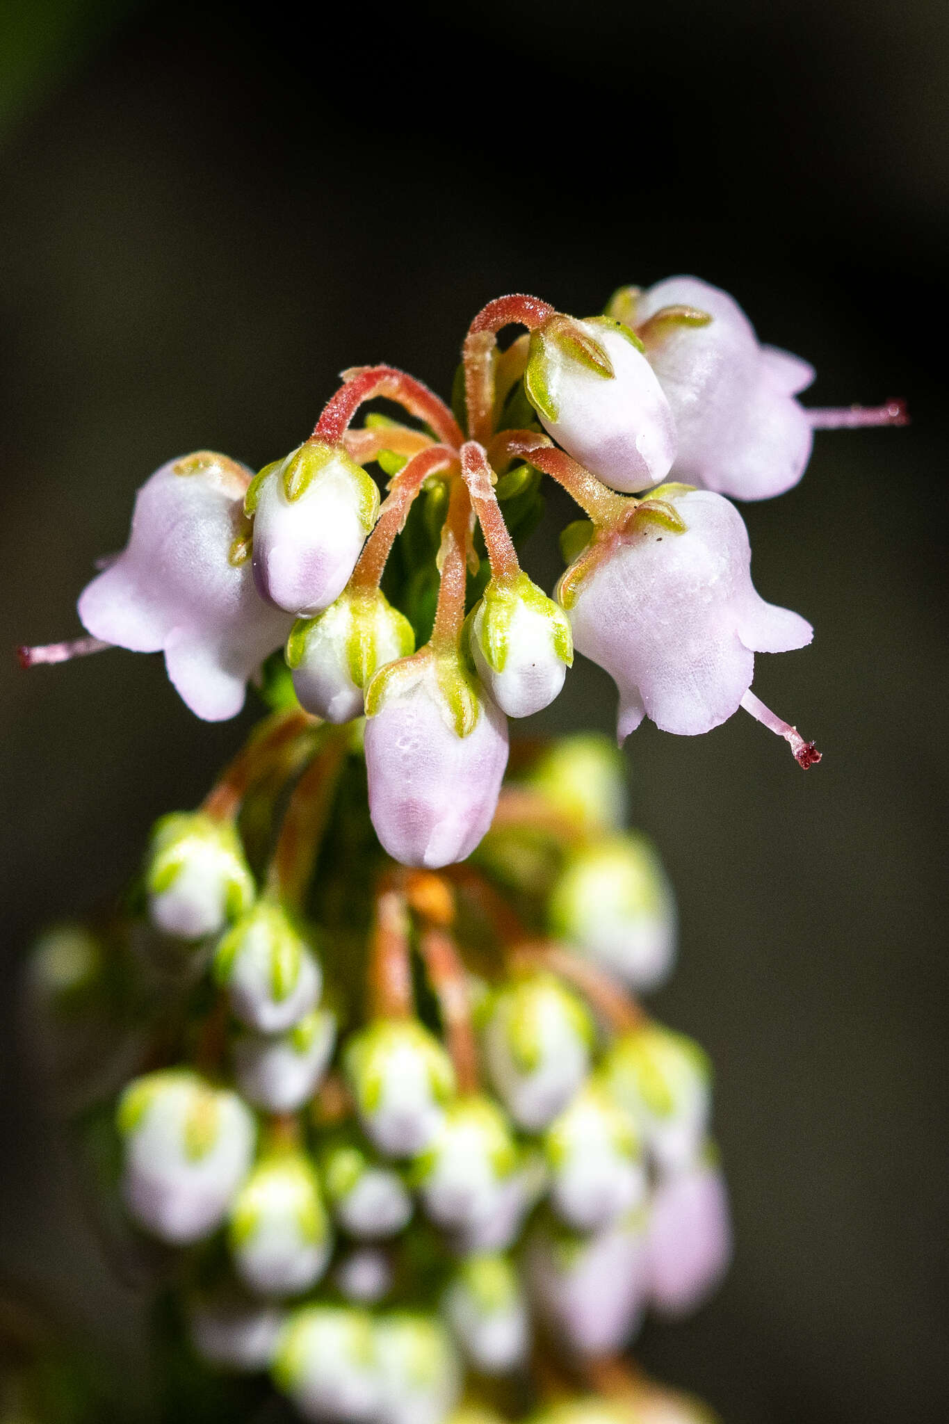
{"type": "Polygon", "coordinates": [[[451,1059],[414,1018],[378,1020],[354,1034],[344,1054],[356,1109],[386,1156],[415,1156],[435,1138],[455,1091],[451,1059]]]}

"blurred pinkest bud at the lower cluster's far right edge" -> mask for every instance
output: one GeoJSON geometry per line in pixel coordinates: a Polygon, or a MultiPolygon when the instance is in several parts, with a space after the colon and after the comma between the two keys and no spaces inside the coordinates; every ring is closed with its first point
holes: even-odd
{"type": "Polygon", "coordinates": [[[669,1319],[689,1314],[711,1294],[731,1259],[724,1176],[713,1152],[663,1178],[646,1232],[649,1293],[669,1319]]]}

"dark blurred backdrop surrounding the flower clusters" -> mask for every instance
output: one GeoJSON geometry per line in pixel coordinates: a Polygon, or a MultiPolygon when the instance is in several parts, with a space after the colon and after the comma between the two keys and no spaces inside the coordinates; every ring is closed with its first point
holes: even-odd
{"type": "MultiPolygon", "coordinates": [[[[744,510],[760,591],[817,628],[756,691],[821,768],[741,715],[627,746],[682,907],[656,1008],[716,1062],[737,1223],[720,1296],[642,1357],[731,1424],[945,1418],[945,7],[351,3],[313,31],[279,6],[6,14],[4,645],[78,631],[91,560],[165,459],[285,453],[357,362],[445,390],[502,290],[583,315],[696,272],[815,362],[812,402],[908,399],[908,430],[818,436],[804,484],[744,510]]],[[[555,577],[549,530],[528,565],[555,577]]],[[[542,725],[612,708],[579,666],[542,725]]],[[[196,722],[159,659],[110,654],[10,661],[0,736],[13,1018],[31,933],[118,889],[240,726],[196,722]]],[[[11,1035],[1,1279],[147,1408],[138,1302],[11,1035]]]]}

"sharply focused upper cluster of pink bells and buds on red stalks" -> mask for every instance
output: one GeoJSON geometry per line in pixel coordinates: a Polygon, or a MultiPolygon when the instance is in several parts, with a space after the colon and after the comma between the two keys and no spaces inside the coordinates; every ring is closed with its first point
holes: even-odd
{"type": "Polygon", "coordinates": [[[899,403],[807,410],[797,397],[812,377],[696,278],[622,288],[583,320],[499,298],[468,332],[455,412],[403,372],[354,367],[309,440],[259,474],[211,451],[164,464],[138,493],[128,545],[80,598],[90,638],[73,649],[162,651],[208,719],[233,716],[248,678],[285,649],[303,708],[367,716],[373,823],[410,866],[471,854],[508,718],[556,698],[575,648],[616,682],[620,740],[645,716],[696,735],[744,706],[810,766],[812,743],[751,681],[756,652],[801,648],[811,627],[756,592],[727,497],[794,486],[815,427],[903,419],[899,403]],[[501,352],[512,325],[528,330],[501,352]],[[410,423],[374,413],[356,429],[376,397],[410,423]],[[390,478],[381,504],[373,466],[390,478]],[[544,476],[586,515],[563,531],[553,598],[515,548],[544,476]]]}

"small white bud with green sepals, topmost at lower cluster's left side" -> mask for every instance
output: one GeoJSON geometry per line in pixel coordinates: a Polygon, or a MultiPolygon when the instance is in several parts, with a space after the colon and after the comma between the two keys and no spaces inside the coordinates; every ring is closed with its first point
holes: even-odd
{"type": "Polygon", "coordinates": [[[253,876],[235,826],[203,812],[157,822],[145,864],[148,913],[182,940],[221,934],[253,904],[253,876]]]}

